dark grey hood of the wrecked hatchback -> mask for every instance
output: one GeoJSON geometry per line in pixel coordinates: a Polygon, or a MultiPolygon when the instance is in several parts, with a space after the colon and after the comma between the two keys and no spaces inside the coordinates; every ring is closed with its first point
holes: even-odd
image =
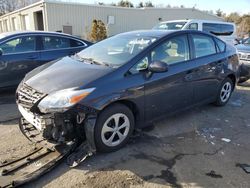
{"type": "Polygon", "coordinates": [[[73,87],[84,87],[113,69],[102,65],[86,64],[71,57],[49,62],[29,72],[24,83],[49,94],[73,87]]]}

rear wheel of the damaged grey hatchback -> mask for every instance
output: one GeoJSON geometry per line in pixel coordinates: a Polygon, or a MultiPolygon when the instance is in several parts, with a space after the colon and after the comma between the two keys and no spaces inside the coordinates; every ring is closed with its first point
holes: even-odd
{"type": "Polygon", "coordinates": [[[230,78],[226,78],[220,86],[215,105],[224,106],[227,104],[233,92],[233,88],[234,86],[232,80],[230,78]]]}

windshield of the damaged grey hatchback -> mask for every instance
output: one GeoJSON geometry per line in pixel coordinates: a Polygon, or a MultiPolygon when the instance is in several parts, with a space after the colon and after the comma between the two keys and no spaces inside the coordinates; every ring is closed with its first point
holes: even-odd
{"type": "Polygon", "coordinates": [[[155,37],[116,35],[79,52],[76,56],[86,63],[119,67],[156,40],[155,37]]]}

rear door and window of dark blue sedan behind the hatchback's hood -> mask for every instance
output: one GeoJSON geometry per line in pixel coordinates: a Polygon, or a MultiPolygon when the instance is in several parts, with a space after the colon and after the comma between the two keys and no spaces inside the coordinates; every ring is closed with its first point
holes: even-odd
{"type": "Polygon", "coordinates": [[[44,63],[74,55],[86,46],[81,41],[57,35],[40,36],[39,40],[41,41],[41,60],[44,63]]]}

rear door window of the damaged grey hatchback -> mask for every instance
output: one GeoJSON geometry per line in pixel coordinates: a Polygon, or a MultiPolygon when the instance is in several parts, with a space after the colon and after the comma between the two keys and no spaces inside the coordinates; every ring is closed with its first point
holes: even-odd
{"type": "Polygon", "coordinates": [[[211,37],[205,35],[192,35],[195,48],[195,57],[202,57],[216,53],[215,44],[211,37]]]}

